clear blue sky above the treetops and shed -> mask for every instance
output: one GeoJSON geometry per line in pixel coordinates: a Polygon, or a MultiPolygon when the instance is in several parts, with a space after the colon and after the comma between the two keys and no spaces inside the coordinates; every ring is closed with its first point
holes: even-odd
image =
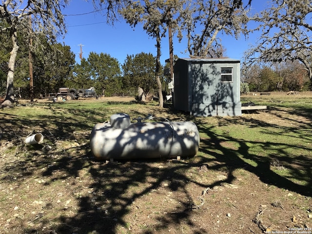
{"type": "MultiPolygon", "coordinates": [[[[253,11],[260,11],[266,5],[265,1],[254,0],[252,4],[253,11]]],[[[116,58],[123,64],[127,55],[136,55],[141,52],[152,53],[156,56],[156,40],[150,38],[142,29],[141,25],[131,28],[124,21],[119,21],[112,25],[106,24],[106,16],[100,13],[90,13],[95,11],[92,3],[86,0],[73,0],[63,11],[67,24],[67,34],[64,42],[71,47],[71,51],[76,54],[76,61],[80,63],[79,51],[82,44],[83,58],[87,59],[90,52],[107,53],[116,58]],[[79,15],[83,14],[83,15],[79,15]],[[79,16],[70,16],[79,15],[79,16]]],[[[249,36],[248,40],[242,36],[239,40],[234,37],[218,35],[222,39],[222,45],[226,48],[226,55],[231,59],[242,59],[243,53],[250,44],[254,44],[257,35],[249,36]]],[[[169,58],[168,37],[161,41],[161,63],[165,64],[165,59],[169,58]]],[[[187,40],[178,43],[176,35],[174,40],[174,54],[179,58],[189,58],[187,49],[187,40]]]]}

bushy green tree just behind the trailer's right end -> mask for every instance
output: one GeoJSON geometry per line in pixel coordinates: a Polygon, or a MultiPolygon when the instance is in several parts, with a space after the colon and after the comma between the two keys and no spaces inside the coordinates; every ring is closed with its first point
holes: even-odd
{"type": "Polygon", "coordinates": [[[97,93],[105,93],[106,96],[122,93],[121,70],[117,59],[106,53],[90,52],[88,62],[97,93]]]}

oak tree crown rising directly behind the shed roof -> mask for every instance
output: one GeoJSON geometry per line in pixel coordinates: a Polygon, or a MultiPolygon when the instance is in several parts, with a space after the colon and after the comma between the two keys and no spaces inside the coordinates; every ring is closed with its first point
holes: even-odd
{"type": "Polygon", "coordinates": [[[220,57],[220,33],[236,39],[241,33],[247,34],[250,4],[251,0],[245,5],[242,0],[187,1],[187,7],[180,14],[190,57],[220,57]]]}

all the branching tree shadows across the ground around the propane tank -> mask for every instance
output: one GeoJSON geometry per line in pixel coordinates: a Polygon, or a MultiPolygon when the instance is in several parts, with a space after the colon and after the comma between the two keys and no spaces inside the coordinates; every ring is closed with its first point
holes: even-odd
{"type": "MultiPolygon", "coordinates": [[[[139,111],[135,113],[138,116],[142,116],[142,113],[139,111]]],[[[85,114],[87,116],[87,113],[85,114]]],[[[93,114],[98,113],[95,111],[93,114]]],[[[67,122],[62,122],[48,120],[48,117],[42,118],[46,119],[46,123],[48,121],[55,121],[54,124],[57,127],[51,134],[60,137],[60,140],[65,140],[72,136],[72,128],[68,123],[78,121],[76,119],[67,119],[67,122]]],[[[93,120],[95,121],[95,119],[93,120]]],[[[245,120],[250,128],[261,128],[263,134],[269,134],[267,129],[270,129],[270,134],[272,134],[272,130],[276,129],[276,134],[278,132],[293,133],[299,137],[305,137],[307,140],[312,135],[311,130],[308,128],[299,130],[297,128],[268,124],[259,120],[245,120]]],[[[29,124],[29,126],[38,123],[36,121],[22,119],[12,119],[10,121],[12,124],[29,124]]],[[[17,179],[20,179],[20,183],[22,183],[21,179],[23,177],[32,176],[35,171],[41,170],[40,175],[46,178],[45,183],[42,184],[43,187],[54,186],[54,184],[59,182],[60,184],[58,186],[68,191],[71,199],[75,200],[78,204],[78,210],[70,210],[71,207],[66,208],[71,211],[72,215],[69,215],[69,213],[62,215],[62,211],[54,207],[55,204],[53,203],[46,205],[46,213],[56,212],[58,215],[60,214],[53,219],[54,224],[50,226],[58,234],[85,234],[92,232],[98,234],[131,233],[127,231],[130,225],[128,215],[135,213],[133,210],[137,210],[140,213],[142,209],[142,207],[137,207],[137,200],[144,196],[152,196],[153,193],[156,193],[155,191],[163,188],[164,183],[168,183],[165,193],[179,192],[181,194],[180,197],[176,197],[180,205],[176,209],[167,210],[166,214],[159,213],[155,217],[155,225],[145,227],[143,226],[145,220],[138,220],[137,223],[142,225],[139,233],[152,234],[167,232],[169,226],[179,226],[181,223],[187,225],[193,234],[209,233],[207,230],[201,229],[192,219],[192,215],[197,208],[195,207],[194,209],[195,201],[192,200],[192,191],[189,191],[187,186],[193,183],[199,188],[202,188],[201,191],[197,191],[198,195],[200,195],[207,187],[213,188],[224,182],[234,182],[234,171],[241,168],[258,176],[266,184],[287,189],[301,195],[311,196],[312,159],[308,155],[296,157],[288,155],[285,149],[297,147],[292,142],[276,144],[273,141],[258,142],[255,140],[245,141],[234,139],[229,135],[217,134],[214,131],[214,126],[209,126],[209,124],[202,123],[200,120],[196,121],[199,132],[208,136],[201,139],[201,147],[199,149],[201,156],[197,156],[196,163],[193,163],[193,160],[190,160],[190,162],[179,161],[169,163],[164,158],[157,158],[119,160],[119,162],[105,164],[93,158],[87,139],[84,138],[83,140],[81,139],[84,143],[80,146],[48,151],[44,155],[38,155],[37,158],[33,155],[21,161],[18,165],[12,167],[7,166],[5,170],[7,172],[14,172],[12,171],[14,168],[14,170],[18,171],[20,176],[17,179]],[[227,141],[237,142],[237,150],[226,147],[224,142],[227,141]],[[251,151],[251,145],[259,145],[263,150],[275,147],[281,156],[270,154],[265,156],[255,155],[251,151]],[[301,180],[305,178],[306,184],[297,184],[291,178],[280,176],[274,172],[271,162],[276,157],[283,163],[284,167],[290,170],[293,178],[301,180]],[[248,163],[248,160],[254,163],[248,163]],[[189,171],[213,161],[218,163],[210,166],[209,170],[219,172],[224,166],[230,169],[226,179],[212,183],[200,183],[188,175],[189,171]],[[80,185],[79,179],[84,180],[84,176],[88,181],[85,181],[84,185],[80,185]],[[61,181],[65,180],[68,184],[66,182],[61,183],[61,181]],[[87,186],[87,188],[84,186],[87,186]],[[82,193],[83,190],[88,190],[88,193],[82,193]],[[124,229],[120,229],[121,227],[124,229]]],[[[240,124],[238,118],[232,118],[230,120],[219,119],[219,121],[220,126],[240,124]]],[[[39,122],[44,125],[42,119],[39,122]]],[[[83,121],[80,121],[78,124],[79,129],[89,128],[83,121]]],[[[308,125],[303,124],[302,127],[304,128],[304,126],[307,127],[308,125]]],[[[46,133],[51,131],[51,129],[44,129],[44,126],[42,128],[46,133]]],[[[12,139],[14,138],[13,135],[8,136],[11,136],[12,139]]],[[[83,137],[87,137],[87,135],[83,137]]],[[[38,151],[36,148],[28,150],[38,151]]],[[[2,179],[10,182],[14,178],[2,177],[2,179]]],[[[40,222],[48,225],[51,219],[43,216],[40,222]]],[[[26,233],[30,231],[31,228],[25,228],[26,233]]]]}

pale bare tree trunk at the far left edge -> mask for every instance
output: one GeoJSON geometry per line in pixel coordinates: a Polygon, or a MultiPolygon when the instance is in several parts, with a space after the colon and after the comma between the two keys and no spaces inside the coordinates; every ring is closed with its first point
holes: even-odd
{"type": "Polygon", "coordinates": [[[14,103],[14,88],[13,88],[13,80],[14,80],[14,67],[15,67],[15,61],[16,56],[18,54],[19,45],[17,41],[17,31],[16,28],[13,27],[10,32],[10,36],[13,42],[13,49],[10,52],[10,60],[8,64],[8,76],[6,79],[6,96],[1,104],[1,106],[12,106],[14,103]]]}

